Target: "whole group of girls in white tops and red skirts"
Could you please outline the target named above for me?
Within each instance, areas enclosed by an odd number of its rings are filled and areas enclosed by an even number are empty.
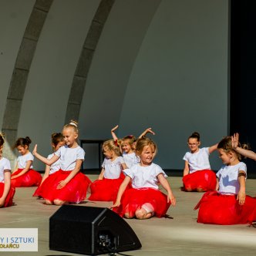
[[[71,120],[62,133],[52,134],[52,151],[42,157],[35,144],[32,153],[29,136],[19,138],[15,148],[20,156],[11,173],[9,160],[2,157],[4,134],[0,133],[0,207],[13,204],[15,187],[33,187],[34,197],[45,204],[78,204],[86,200],[112,201],[112,209],[121,217],[148,219],[164,217],[176,198],[163,169],[153,163],[157,145],[147,135],[155,134],[151,128],[136,138],[129,135],[122,139],[111,130],[112,140],[103,143],[102,170],[92,182],[81,172],[85,151],[79,147],[78,123]],[[184,155],[183,190],[204,192],[195,206],[199,209],[197,222],[204,224],[247,224],[256,221],[256,197],[245,192],[246,164],[241,157],[256,160],[256,153],[239,143],[239,135],[226,136],[211,147],[200,148],[200,134],[192,133],[187,140],[190,149]],[[224,165],[215,173],[211,170],[209,155],[218,151]],[[34,157],[45,163],[45,173],[33,170]],[[166,194],[159,190],[159,185]]]

